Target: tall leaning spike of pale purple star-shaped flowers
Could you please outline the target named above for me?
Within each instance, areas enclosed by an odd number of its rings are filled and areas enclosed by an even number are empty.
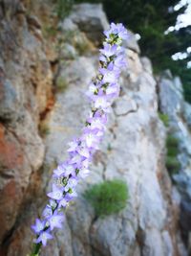
[[[37,219],[32,225],[37,236],[35,243],[38,244],[35,253],[41,244],[46,245],[53,238],[51,233],[54,228],[61,228],[64,221],[61,209],[77,196],[75,187],[78,181],[89,175],[92,156],[106,129],[107,113],[119,93],[118,78],[126,63],[121,43],[128,34],[122,24],[112,23],[104,35],[106,39],[100,50],[99,72],[86,93],[92,103],[90,115],[82,135],[69,143],[68,159],[53,170],[53,189],[48,193],[49,202],[43,210],[42,220]]]

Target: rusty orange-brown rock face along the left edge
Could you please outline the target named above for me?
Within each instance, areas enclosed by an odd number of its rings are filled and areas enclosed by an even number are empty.
[[[24,6],[1,1],[0,13],[0,243],[4,244],[18,221],[32,175],[43,163],[45,146],[38,124],[51,94],[52,72],[42,41],[29,29]]]

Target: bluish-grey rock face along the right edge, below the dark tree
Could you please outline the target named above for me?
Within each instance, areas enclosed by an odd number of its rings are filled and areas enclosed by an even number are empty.
[[[169,71],[159,79],[159,107],[169,117],[169,132],[179,140],[180,171],[173,175],[181,196],[180,222],[187,243],[191,231],[191,105],[183,100],[183,89],[179,78]]]

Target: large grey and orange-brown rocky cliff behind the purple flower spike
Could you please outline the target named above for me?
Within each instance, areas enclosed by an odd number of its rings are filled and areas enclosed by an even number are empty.
[[[53,168],[66,157],[67,142],[88,112],[84,92],[96,75],[97,46],[108,27],[101,5],[74,6],[60,22],[50,1],[37,2],[0,2],[0,255],[30,252],[30,226],[46,203]],[[158,111],[175,126],[173,118],[179,116],[189,133],[190,106],[178,81],[174,86],[172,78],[155,80],[133,34],[125,51],[128,68],[92,173],[79,184],[63,229],[42,255],[187,255],[180,235],[181,198],[165,168],[167,129]],[[186,109],[181,116],[175,113],[179,101]],[[189,153],[184,157],[188,166]],[[186,169],[181,154],[180,161]],[[114,177],[128,185],[126,208],[97,219],[83,192]]]

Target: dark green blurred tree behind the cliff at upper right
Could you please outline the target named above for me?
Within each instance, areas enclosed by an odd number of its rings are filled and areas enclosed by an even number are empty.
[[[83,2],[83,0],[75,0]],[[154,72],[170,69],[183,81],[185,99],[191,103],[191,69],[187,69],[187,59],[174,61],[171,56],[183,52],[190,46],[191,29],[182,28],[164,35],[174,26],[177,16],[185,11],[185,7],[174,12],[173,7],[179,0],[89,0],[102,2],[110,21],[122,22],[130,30],[138,33],[142,54],[151,58]]]

